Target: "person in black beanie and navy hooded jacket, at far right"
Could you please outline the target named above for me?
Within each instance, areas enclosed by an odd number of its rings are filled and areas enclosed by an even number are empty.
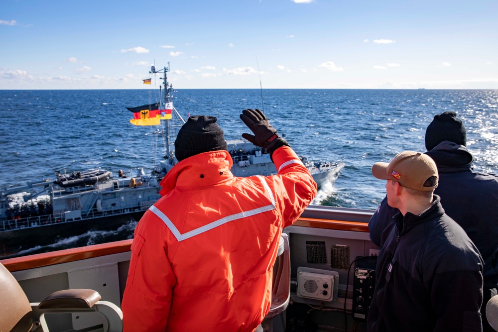
[[[434,116],[425,133],[426,154],[436,163],[445,213],[458,222],[479,249],[484,265],[483,331],[495,331],[486,319],[486,304],[498,286],[498,175],[475,172],[474,156],[466,147],[467,133],[453,111]],[[381,202],[369,222],[370,238],[381,244],[382,232],[398,212]]]

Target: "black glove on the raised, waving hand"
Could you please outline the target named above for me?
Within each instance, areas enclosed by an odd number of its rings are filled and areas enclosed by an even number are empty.
[[[246,123],[254,135],[243,133],[242,137],[247,139],[255,146],[265,148],[270,157],[277,148],[281,146],[290,146],[282,137],[278,136],[275,128],[271,126],[264,113],[260,110],[244,110],[241,119]]]

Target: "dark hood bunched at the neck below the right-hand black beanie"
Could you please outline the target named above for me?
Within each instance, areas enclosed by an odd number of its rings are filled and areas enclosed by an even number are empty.
[[[465,146],[450,141],[442,141],[425,154],[434,160],[439,172],[472,169],[474,161],[474,156]]]

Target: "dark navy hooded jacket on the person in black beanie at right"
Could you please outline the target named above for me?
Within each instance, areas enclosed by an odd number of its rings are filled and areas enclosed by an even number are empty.
[[[484,288],[498,286],[498,175],[474,172],[474,157],[463,145],[443,141],[426,152],[439,172],[434,194],[441,197],[445,213],[467,232],[479,249],[484,265]],[[384,198],[369,223],[377,246],[392,216],[398,212]]]

